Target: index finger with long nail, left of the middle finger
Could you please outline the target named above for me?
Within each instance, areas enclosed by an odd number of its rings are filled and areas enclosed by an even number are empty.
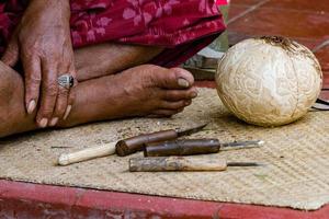
[[[27,114],[32,114],[36,108],[39,97],[42,80],[41,60],[38,57],[22,55],[22,65],[24,69],[25,107]]]

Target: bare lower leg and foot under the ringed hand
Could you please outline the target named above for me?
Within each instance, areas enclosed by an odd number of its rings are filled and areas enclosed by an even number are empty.
[[[171,116],[191,104],[191,99],[196,96],[195,89],[179,84],[180,78],[193,84],[193,77],[183,69],[151,65],[80,82],[72,89],[77,97],[71,113],[58,126],[132,116]],[[36,129],[35,115],[27,116],[25,113],[21,76],[2,62],[0,91],[0,137]]]

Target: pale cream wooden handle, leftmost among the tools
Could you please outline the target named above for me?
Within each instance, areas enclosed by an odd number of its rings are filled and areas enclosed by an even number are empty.
[[[94,158],[100,158],[104,155],[111,155],[115,153],[115,143],[110,142],[103,146],[92,147],[88,149],[83,149],[72,153],[63,153],[58,158],[59,165],[69,165],[72,163],[91,160]]]

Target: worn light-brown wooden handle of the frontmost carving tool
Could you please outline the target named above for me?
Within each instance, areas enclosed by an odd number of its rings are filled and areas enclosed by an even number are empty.
[[[225,160],[195,157],[133,158],[129,160],[131,172],[166,171],[224,171]]]

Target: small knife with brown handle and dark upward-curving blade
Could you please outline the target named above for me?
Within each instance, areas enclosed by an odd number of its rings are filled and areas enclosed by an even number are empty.
[[[124,140],[120,140],[115,146],[115,151],[116,154],[120,157],[128,155],[137,151],[141,151],[145,147],[145,143],[172,140],[181,136],[195,134],[202,130],[206,125],[207,124],[202,124],[188,129],[177,128],[177,129],[169,129],[169,130],[160,130],[157,132],[144,134]]]

